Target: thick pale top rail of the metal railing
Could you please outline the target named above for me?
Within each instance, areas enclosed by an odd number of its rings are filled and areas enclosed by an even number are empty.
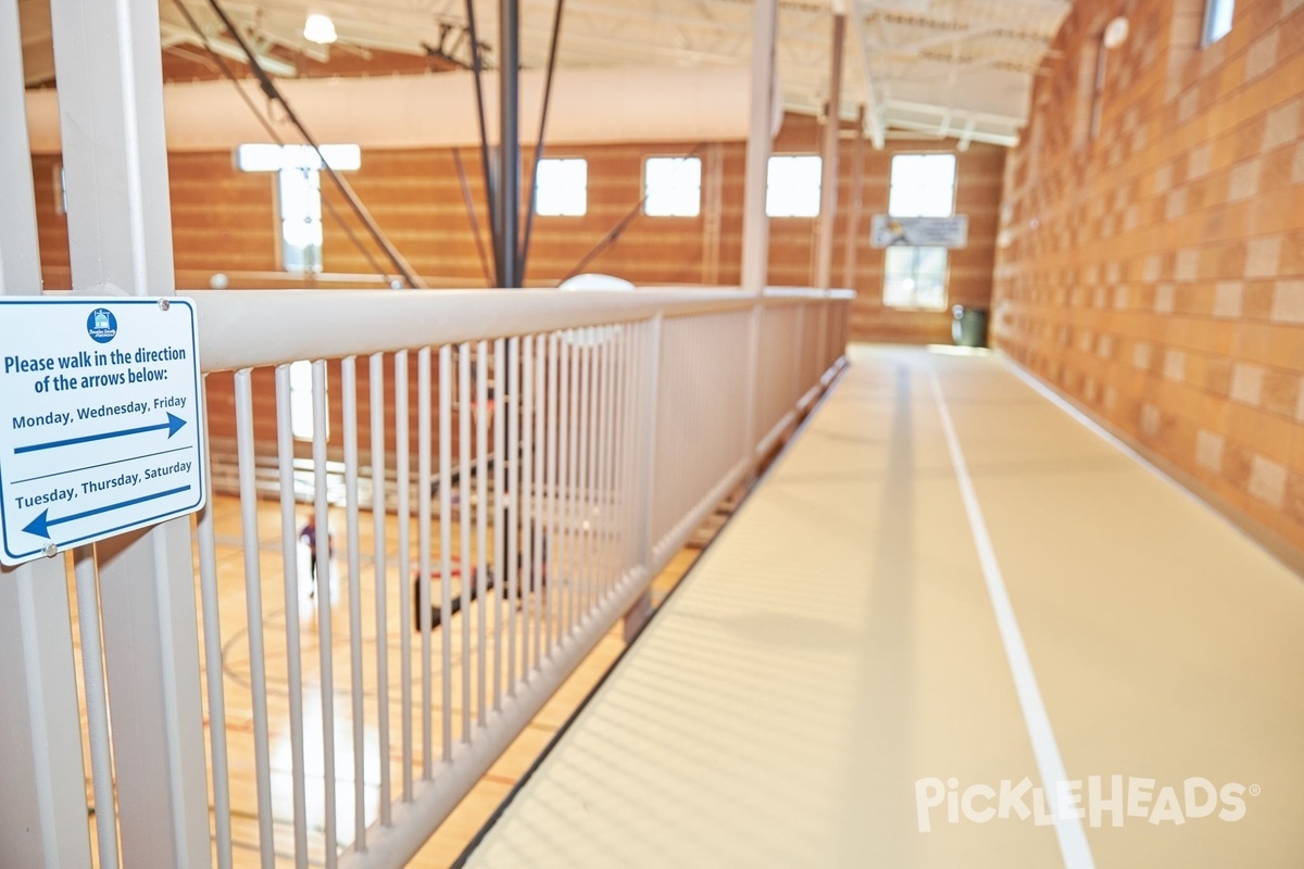
[[[825,297],[806,291],[810,298]],[[742,310],[758,298],[739,289],[563,292],[469,291],[185,291],[200,326],[205,371],[296,360],[338,358],[412,347]],[[831,294],[829,294],[831,296]],[[789,291],[767,293],[782,304]],[[314,304],[319,302],[319,304]]]

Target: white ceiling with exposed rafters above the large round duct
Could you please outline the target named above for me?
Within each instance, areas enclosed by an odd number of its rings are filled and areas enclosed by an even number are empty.
[[[202,10],[197,0],[184,0]],[[348,57],[348,74],[369,52],[421,57],[428,69],[464,66],[467,0],[224,0],[240,35],[276,76],[303,74],[301,57],[329,64]],[[484,21],[498,0],[471,0]],[[18,0],[29,85],[53,78],[50,0]],[[554,0],[520,0],[520,61],[542,68]],[[846,86],[840,117],[865,107],[863,134],[882,147],[893,130],[938,134],[961,143],[1011,142],[1028,113],[1031,82],[1069,9],[1068,0],[778,0],[776,65],[790,111],[818,115],[828,94],[828,21],[846,13]],[[567,0],[558,66],[745,66],[751,52],[754,0]],[[303,35],[309,8],[329,14],[339,40],[318,46]],[[201,16],[214,50],[239,60],[231,35]],[[164,47],[196,46],[171,4],[160,5]],[[494,33],[484,38],[493,42]],[[482,46],[490,50],[490,46]],[[492,56],[492,52],[490,55]],[[490,64],[492,66],[493,64]],[[928,107],[921,111],[919,106]],[[992,117],[969,124],[965,112]],[[998,120],[999,119],[999,120]]]

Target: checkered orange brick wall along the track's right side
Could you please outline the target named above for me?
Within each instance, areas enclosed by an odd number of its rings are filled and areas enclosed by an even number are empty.
[[[1106,51],[1098,130],[1091,94]],[[998,344],[1304,556],[1304,3],[1074,4],[1005,165]]]

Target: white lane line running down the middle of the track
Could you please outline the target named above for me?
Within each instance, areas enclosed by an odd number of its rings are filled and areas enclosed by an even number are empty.
[[[1005,580],[996,560],[991,535],[987,533],[987,521],[983,519],[982,506],[978,503],[978,492],[969,477],[969,466],[965,464],[965,455],[960,448],[960,438],[956,435],[956,426],[951,420],[941,382],[931,366],[928,367],[928,384],[932,387],[938,414],[941,417],[947,451],[951,453],[951,464],[956,472],[956,481],[960,483],[960,496],[965,504],[969,530],[973,534],[978,563],[987,584],[987,597],[991,599],[991,608],[996,615],[1000,641],[1005,646],[1005,659],[1015,677],[1015,691],[1018,694],[1018,705],[1024,713],[1028,736],[1033,743],[1033,756],[1037,758],[1037,769],[1042,776],[1042,788],[1055,816],[1055,838],[1059,840],[1060,856],[1064,859],[1067,869],[1094,869],[1095,860],[1091,857],[1091,848],[1086,842],[1086,830],[1082,827],[1081,818],[1063,817],[1058,810],[1059,806],[1054,804],[1056,783],[1069,780],[1068,773],[1064,770],[1064,758],[1060,757],[1059,744],[1051,730],[1051,719],[1046,713],[1041,688],[1037,687],[1037,676],[1033,672],[1033,662],[1028,657],[1028,648],[1024,645],[1024,634],[1018,631],[1015,607],[1009,601],[1009,591],[1005,589]]]

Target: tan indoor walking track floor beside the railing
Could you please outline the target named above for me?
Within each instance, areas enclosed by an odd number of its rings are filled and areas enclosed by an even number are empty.
[[[853,348],[469,866],[1299,866],[1304,584],[999,357]]]

